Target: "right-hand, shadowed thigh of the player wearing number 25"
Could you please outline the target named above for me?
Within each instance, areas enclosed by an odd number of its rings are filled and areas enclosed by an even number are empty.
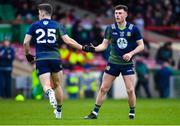
[[[59,71],[59,72],[52,72],[51,73],[51,78],[52,81],[54,83],[54,86],[58,86],[58,85],[62,85],[63,83],[63,71]]]

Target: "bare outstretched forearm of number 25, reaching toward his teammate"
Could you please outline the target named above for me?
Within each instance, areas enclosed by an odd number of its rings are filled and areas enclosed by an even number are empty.
[[[63,35],[61,38],[69,46],[82,50],[82,45],[77,43],[74,39],[70,38],[67,34]]]

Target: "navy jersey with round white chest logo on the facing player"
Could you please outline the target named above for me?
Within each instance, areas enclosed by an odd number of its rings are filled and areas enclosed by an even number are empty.
[[[137,47],[137,41],[142,39],[139,29],[133,24],[127,23],[124,29],[118,28],[117,23],[107,26],[105,39],[111,41],[111,52],[108,61],[113,64],[132,64],[132,60],[126,62],[122,56]]]

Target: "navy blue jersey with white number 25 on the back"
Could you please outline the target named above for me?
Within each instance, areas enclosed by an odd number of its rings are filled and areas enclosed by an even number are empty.
[[[66,35],[62,24],[50,19],[42,19],[31,25],[27,34],[32,36],[36,48],[36,60],[60,59],[60,37]]]

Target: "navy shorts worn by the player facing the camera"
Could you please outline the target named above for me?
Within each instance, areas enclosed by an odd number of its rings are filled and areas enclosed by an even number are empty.
[[[119,76],[120,73],[122,75],[132,75],[135,73],[133,64],[119,65],[112,63],[107,64],[105,72],[116,77]]]

